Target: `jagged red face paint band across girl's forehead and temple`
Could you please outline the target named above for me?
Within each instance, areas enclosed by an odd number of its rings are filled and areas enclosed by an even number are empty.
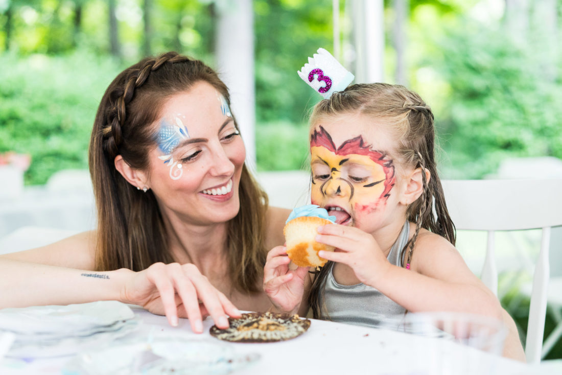
[[[341,146],[336,147],[336,144],[332,140],[332,136],[323,128],[323,126],[319,126],[319,128],[320,131],[315,129],[314,133],[310,136],[310,147],[324,147],[327,148],[328,151],[339,156],[362,155],[369,157],[369,159],[383,168],[385,175],[384,190],[380,196],[387,198],[396,182],[394,164],[392,159],[388,159],[387,153],[372,150],[370,144],[365,144],[361,135],[348,139],[343,142]]]

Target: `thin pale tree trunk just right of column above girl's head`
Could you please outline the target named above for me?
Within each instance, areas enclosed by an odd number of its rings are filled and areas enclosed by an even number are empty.
[[[396,51],[395,79],[397,84],[408,85],[406,72],[406,28],[408,24],[409,0],[394,0],[395,20],[392,40]]]

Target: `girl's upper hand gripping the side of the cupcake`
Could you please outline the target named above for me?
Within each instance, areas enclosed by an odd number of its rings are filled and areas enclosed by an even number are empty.
[[[359,228],[328,224],[318,227],[318,233],[316,241],[336,247],[334,252],[319,251],[318,255],[350,266],[364,284],[376,287],[391,266],[373,236]]]

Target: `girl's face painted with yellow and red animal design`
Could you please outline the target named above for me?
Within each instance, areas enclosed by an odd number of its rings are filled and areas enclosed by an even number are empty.
[[[367,116],[320,118],[311,127],[312,204],[365,232],[396,219],[398,188],[386,126]]]

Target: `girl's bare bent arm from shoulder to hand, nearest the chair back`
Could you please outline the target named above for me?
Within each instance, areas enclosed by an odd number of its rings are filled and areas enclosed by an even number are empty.
[[[411,269],[388,263],[373,236],[357,228],[324,225],[316,241],[336,252],[319,252],[347,264],[362,282],[409,311],[465,311],[501,319],[495,295],[468,269],[445,238],[423,230],[418,236]]]

